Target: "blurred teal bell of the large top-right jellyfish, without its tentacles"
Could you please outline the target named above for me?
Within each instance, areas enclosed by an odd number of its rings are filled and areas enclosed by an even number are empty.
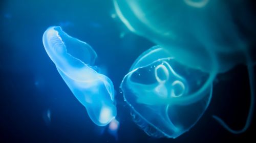
[[[256,20],[249,20],[254,18],[244,10],[246,4],[243,0],[114,1],[117,15],[130,31],[168,49],[184,65],[216,73],[248,63],[245,50],[253,51],[248,41],[256,36]],[[232,18],[236,5],[247,19]],[[235,20],[251,32],[250,37],[239,31]]]

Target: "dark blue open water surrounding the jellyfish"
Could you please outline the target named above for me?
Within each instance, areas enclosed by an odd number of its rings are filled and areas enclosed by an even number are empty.
[[[233,135],[211,118],[219,115],[231,127],[243,127],[250,100],[245,66],[218,76],[208,109],[189,132],[177,139],[152,138],[132,121],[119,84],[137,56],[154,44],[111,17],[115,12],[112,1],[10,0],[0,4],[0,142],[255,141],[254,120],[248,131]],[[51,25],[62,26],[98,53],[99,66],[116,90],[117,140],[92,123],[49,59],[42,34]],[[50,122],[47,110],[51,111]]]

